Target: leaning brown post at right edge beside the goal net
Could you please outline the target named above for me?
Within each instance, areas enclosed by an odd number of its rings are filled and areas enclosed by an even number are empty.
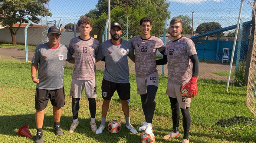
[[[254,0],[256,1],[256,0]],[[253,40],[255,36],[255,15],[252,11],[252,32],[250,36],[249,46],[248,46],[248,52],[247,52],[247,58],[246,58],[246,67],[245,67],[245,73],[244,73],[244,83],[247,85],[248,83],[248,76],[249,76],[249,69],[250,69],[250,63],[252,58],[252,49],[253,49]]]

